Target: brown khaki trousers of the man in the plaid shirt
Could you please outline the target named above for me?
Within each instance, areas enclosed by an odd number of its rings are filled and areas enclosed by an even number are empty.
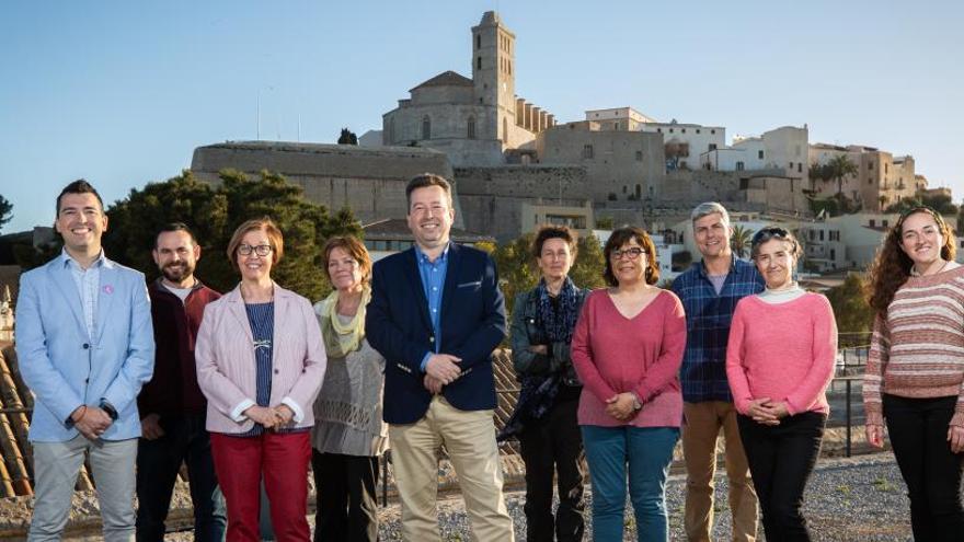
[[[726,445],[726,476],[733,540],[751,542],[757,533],[757,494],[749,476],[746,453],[736,425],[736,408],[725,401],[684,403],[682,453],[686,459],[684,527],[690,541],[709,542],[713,528],[713,492],[716,474],[716,437]]]

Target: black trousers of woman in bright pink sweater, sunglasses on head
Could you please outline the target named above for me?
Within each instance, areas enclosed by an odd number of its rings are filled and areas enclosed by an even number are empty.
[[[737,417],[767,540],[811,540],[801,512],[803,491],[820,454],[826,422],[815,412],[787,416],[777,426]]]

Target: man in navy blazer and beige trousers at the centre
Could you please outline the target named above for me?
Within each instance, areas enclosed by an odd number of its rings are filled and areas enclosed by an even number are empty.
[[[437,541],[436,451],[445,445],[478,540],[514,540],[495,445],[492,350],[505,302],[492,258],[449,241],[451,186],[418,175],[405,188],[415,246],[375,264],[365,333],[385,356],[402,535]]]

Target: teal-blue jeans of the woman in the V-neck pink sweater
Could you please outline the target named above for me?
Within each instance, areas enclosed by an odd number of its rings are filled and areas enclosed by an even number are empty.
[[[666,476],[679,428],[584,425],[582,429],[593,481],[593,540],[622,540],[627,464],[636,540],[668,540]]]

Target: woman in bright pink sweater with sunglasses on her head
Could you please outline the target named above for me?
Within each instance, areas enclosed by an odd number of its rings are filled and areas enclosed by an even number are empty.
[[[733,314],[726,377],[767,540],[810,540],[801,514],[829,407],[837,325],[827,298],[793,280],[800,244],[792,233],[764,228],[751,257],[767,281]]]

